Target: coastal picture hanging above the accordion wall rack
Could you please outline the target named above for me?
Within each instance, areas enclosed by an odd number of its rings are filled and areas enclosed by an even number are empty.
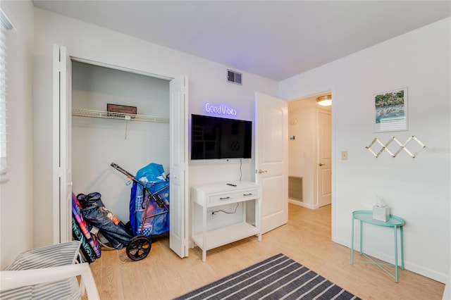
[[[407,87],[374,94],[374,132],[407,129]]]

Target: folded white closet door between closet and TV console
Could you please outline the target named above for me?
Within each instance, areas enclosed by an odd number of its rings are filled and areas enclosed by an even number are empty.
[[[188,79],[169,84],[170,190],[169,247],[181,258],[188,256]]]

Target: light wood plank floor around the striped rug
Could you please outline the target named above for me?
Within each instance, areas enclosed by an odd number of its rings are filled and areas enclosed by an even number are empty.
[[[400,270],[395,283],[376,265],[351,265],[350,249],[330,241],[330,206],[310,210],[290,204],[288,224],[266,233],[261,242],[249,237],[207,251],[205,263],[198,247],[181,259],[163,238],[153,242],[142,261],[130,261],[125,249],[102,251],[91,269],[102,300],[172,299],[279,253],[362,299],[442,299],[445,288],[408,270]]]

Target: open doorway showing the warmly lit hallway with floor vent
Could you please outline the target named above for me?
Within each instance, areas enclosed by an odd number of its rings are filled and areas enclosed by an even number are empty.
[[[289,202],[310,209],[331,204],[331,106],[319,106],[322,92],[288,103]],[[297,192],[297,194],[294,194]]]

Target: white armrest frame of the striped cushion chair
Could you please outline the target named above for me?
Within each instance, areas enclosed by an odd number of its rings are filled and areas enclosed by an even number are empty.
[[[45,282],[64,280],[81,276],[81,284],[85,286],[87,297],[100,299],[97,287],[88,263],[61,265],[59,267],[39,268],[32,270],[13,270],[0,272],[0,291],[15,289],[28,285],[38,285]]]

